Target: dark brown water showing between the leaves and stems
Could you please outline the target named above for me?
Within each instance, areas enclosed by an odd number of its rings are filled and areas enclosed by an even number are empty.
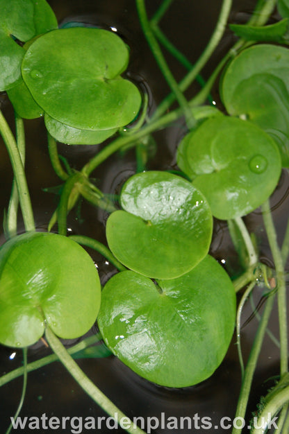
[[[60,23],[68,21],[83,21],[86,24],[93,24],[104,28],[111,26],[117,28],[117,33],[131,47],[131,62],[129,74],[144,92],[149,93],[149,105],[151,110],[166,96],[168,89],[164,78],[152,58],[147,44],[140,31],[135,3],[133,0],[53,0],[49,1],[53,10],[56,12]],[[193,63],[197,60],[201,51],[206,46],[210,33],[213,31],[217,14],[220,11],[220,0],[208,1],[174,1],[170,12],[165,15],[162,21],[163,31],[170,36],[170,40],[187,55]],[[249,17],[256,1],[235,1],[231,21],[244,22]],[[160,1],[147,1],[149,14],[156,10]],[[222,57],[226,49],[233,43],[233,37],[226,31],[222,44],[218,47],[212,60],[204,70],[204,77],[209,75],[217,64],[217,60]],[[177,79],[185,73],[185,69],[173,62],[170,55],[167,55],[172,71]],[[188,92],[188,97],[197,92],[197,85]],[[213,93],[216,101],[218,100],[217,90]],[[12,119],[13,113],[5,94],[0,95],[1,109],[5,112],[8,119]],[[26,173],[29,189],[35,212],[35,220],[39,229],[46,229],[49,218],[57,205],[57,196],[52,193],[44,192],[46,187],[57,186],[60,180],[53,173],[47,153],[47,139],[42,120],[26,121],[27,139],[27,164]],[[156,157],[149,163],[149,168],[173,169],[176,168],[175,151],[179,139],[185,134],[182,122],[173,128],[167,128],[155,134],[158,143]],[[74,168],[81,168],[85,162],[99,150],[99,146],[59,146],[59,152],[67,157],[69,164]],[[135,173],[135,155],[133,151],[125,155],[114,155],[108,159],[106,164],[101,165],[93,173],[97,186],[106,193],[119,191],[130,175]],[[0,146],[0,180],[1,180],[1,217],[3,209],[7,207],[10,196],[10,185],[12,172],[10,163],[1,143]],[[283,173],[279,186],[272,198],[273,216],[279,228],[280,240],[286,227],[286,219],[289,212],[288,189],[289,179]],[[83,234],[105,242],[105,220],[104,211],[99,211],[83,202],[80,214],[76,211],[69,215],[67,224],[75,234]],[[256,233],[258,244],[261,250],[261,258],[271,264],[272,259],[267,245],[267,238],[264,233],[261,214],[258,210],[246,218],[249,229]],[[19,221],[19,230],[23,229],[22,222]],[[1,240],[3,241],[3,235]],[[236,253],[233,250],[229,233],[226,225],[220,221],[215,222],[214,239],[211,246],[211,253],[220,261],[225,263],[230,272],[238,272],[236,266]],[[99,266],[99,274],[104,284],[115,270],[113,266],[106,263],[104,258],[96,252],[90,251],[94,261]],[[258,304],[262,297],[262,290],[257,288],[254,295],[254,302]],[[251,316],[251,306],[245,306],[243,322]],[[242,329],[242,349],[245,360],[256,333],[258,320],[254,317]],[[270,329],[278,336],[278,324],[276,312],[270,322]],[[151,384],[131,372],[126,366],[113,356],[101,359],[88,359],[79,362],[81,368],[88,374],[90,379],[105,393],[110,399],[129,417],[156,417],[161,422],[162,413],[165,420],[169,417],[194,417],[192,429],[173,428],[170,426],[153,429],[154,433],[226,433],[230,429],[220,427],[222,417],[233,418],[238,394],[240,392],[240,367],[238,364],[236,337],[233,337],[231,347],[222,365],[215,374],[192,388],[181,390],[171,390]],[[12,358],[12,354],[14,354]],[[28,351],[29,360],[49,354],[49,350],[41,342]],[[12,358],[12,359],[10,359]],[[22,364],[22,351],[14,351],[6,347],[0,348],[0,371],[8,372]],[[194,369],[194,367],[192,367]],[[251,411],[256,409],[256,403],[262,394],[270,388],[274,381],[272,377],[279,373],[279,350],[274,343],[266,338],[265,345],[258,362],[258,370],[254,377],[252,398],[249,403],[248,417]],[[21,394],[22,379],[17,379],[0,389],[0,432],[4,433],[9,424],[9,417],[14,415]],[[47,417],[104,417],[105,413],[88,398],[79,388],[71,376],[59,363],[53,363],[41,370],[28,374],[28,388],[26,399],[21,415],[24,417],[40,417],[46,413]],[[201,418],[209,417],[213,425],[208,428],[205,420]],[[198,419],[200,418],[200,419]],[[77,421],[75,422],[75,432],[79,431]],[[226,420],[226,425],[229,422]],[[151,419],[151,425],[156,425],[156,421]],[[213,428],[218,426],[219,428]],[[32,431],[32,430],[31,430]],[[101,433],[111,431],[121,433],[121,428],[110,429],[103,425],[99,428]],[[17,432],[30,432],[28,430]],[[38,430],[40,433],[63,432],[69,433],[67,427],[63,430]],[[244,431],[246,432],[246,430]]]

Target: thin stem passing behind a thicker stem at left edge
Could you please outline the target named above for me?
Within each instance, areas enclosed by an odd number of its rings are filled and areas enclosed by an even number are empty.
[[[15,112],[15,128],[16,128],[16,142],[19,150],[19,155],[22,164],[25,164],[25,133],[23,119]],[[17,235],[17,212],[19,205],[19,197],[17,191],[17,184],[15,177],[13,179],[10,202],[7,213],[7,232],[8,237],[12,238]]]

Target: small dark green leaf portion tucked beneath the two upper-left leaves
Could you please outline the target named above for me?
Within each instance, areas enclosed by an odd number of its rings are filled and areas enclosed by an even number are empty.
[[[7,94],[14,110],[24,119],[35,119],[43,116],[42,108],[33,99],[28,87],[21,79],[19,83],[8,89]]]

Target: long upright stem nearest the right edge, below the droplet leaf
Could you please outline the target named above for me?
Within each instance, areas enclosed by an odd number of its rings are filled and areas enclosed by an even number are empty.
[[[288,331],[287,331],[287,309],[286,309],[286,281],[283,268],[283,258],[277,242],[277,235],[270,211],[270,202],[267,200],[263,206],[263,220],[267,232],[270,249],[276,269],[276,281],[278,287],[278,314],[280,334],[280,373],[281,376],[288,372]]]

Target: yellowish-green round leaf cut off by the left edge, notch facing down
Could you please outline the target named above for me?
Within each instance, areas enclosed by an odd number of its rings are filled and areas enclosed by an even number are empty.
[[[0,249],[0,342],[26,347],[45,322],[60,338],[86,333],[97,318],[100,283],[89,254],[65,236],[33,232]]]

